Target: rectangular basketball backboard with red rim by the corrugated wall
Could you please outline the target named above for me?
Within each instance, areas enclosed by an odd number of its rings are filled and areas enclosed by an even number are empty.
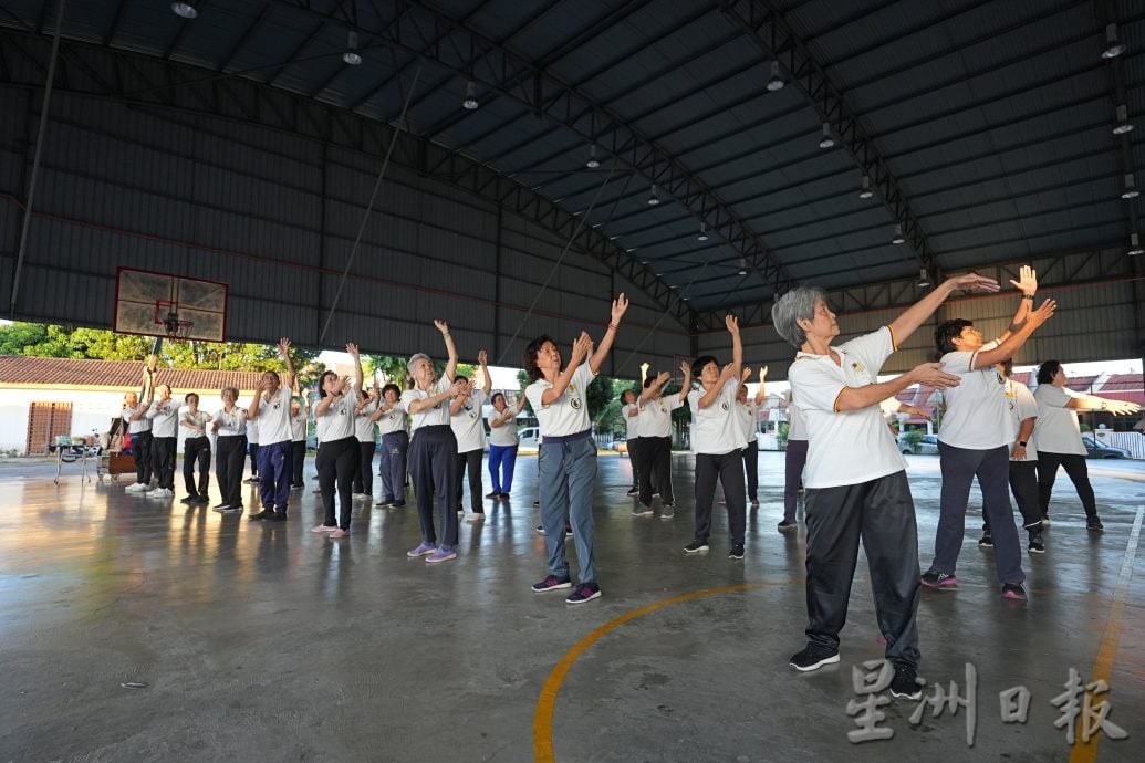
[[[229,286],[219,281],[120,268],[114,329],[121,334],[222,342]]]

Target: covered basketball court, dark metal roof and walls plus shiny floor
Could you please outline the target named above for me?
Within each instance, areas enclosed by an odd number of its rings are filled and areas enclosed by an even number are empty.
[[[1143,87],[1129,0],[9,0],[2,317],[389,355],[440,355],[440,318],[463,360],[512,366],[539,333],[599,335],[625,292],[607,375],[727,357],[734,312],[783,379],[768,316],[793,284],[852,335],[947,275],[1030,264],[1060,307],[1019,364],[1139,359]],[[220,285],[221,309],[140,277],[124,312],[125,271]],[[1012,308],[966,295],[933,321],[988,334]],[[804,534],[774,532],[772,455],[740,564],[684,557],[689,498],[674,524],[631,517],[627,461],[602,456],[606,595],[575,611],[526,588],[528,462],[444,569],[400,553],[412,512],[363,507],[337,545],[0,469],[0,757],[1136,760],[1139,462],[1093,468],[1099,535],[1059,486],[1027,604],[969,535],[962,590],[924,597],[921,674],[977,675],[970,747],[969,708],[910,723],[898,701],[893,739],[848,739],[852,669],[882,654],[863,563],[843,662],[788,669]],[[938,474],[909,474],[925,561]],[[1127,741],[1067,742],[1071,670],[1107,682]],[[1016,686],[1025,721],[1000,710]]]

